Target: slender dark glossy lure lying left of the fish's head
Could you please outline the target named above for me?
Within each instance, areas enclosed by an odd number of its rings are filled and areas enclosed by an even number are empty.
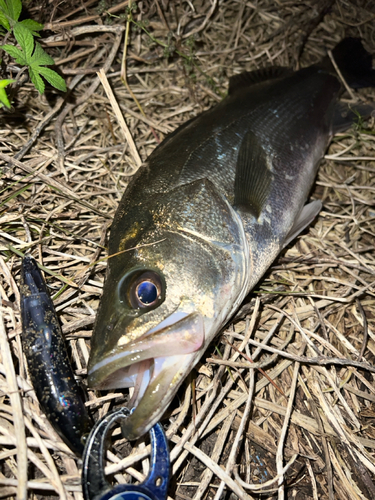
[[[20,290],[22,345],[35,393],[56,432],[81,456],[93,423],[74,379],[52,300],[31,256],[22,262]]]

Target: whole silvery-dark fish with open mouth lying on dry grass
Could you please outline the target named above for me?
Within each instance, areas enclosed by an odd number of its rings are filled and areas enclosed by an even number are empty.
[[[341,77],[375,85],[371,55],[347,38],[330,58],[292,71],[233,76],[228,95],[184,123],[129,183],[109,239],[88,385],[134,387],[122,426],[136,439],[158,421],[207,346],[279,252],[319,213],[306,204],[333,137],[356,113]]]

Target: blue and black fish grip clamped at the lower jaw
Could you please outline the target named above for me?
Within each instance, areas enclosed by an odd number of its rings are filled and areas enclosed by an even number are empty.
[[[168,442],[160,424],[150,429],[151,468],[141,484],[112,487],[104,476],[106,438],[114,424],[130,415],[127,408],[109,412],[92,429],[83,454],[82,491],[85,500],[166,500],[170,460]]]

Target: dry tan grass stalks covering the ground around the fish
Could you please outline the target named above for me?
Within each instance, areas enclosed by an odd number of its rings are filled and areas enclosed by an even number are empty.
[[[131,26],[127,87],[123,20],[99,16],[96,1],[76,11],[69,1],[42,11],[37,4],[29,4],[31,17],[50,23],[44,45],[72,91],[65,100],[52,90],[40,97],[25,83],[14,111],[0,115],[0,498],[15,498],[18,487],[20,498],[27,488],[29,498],[78,500],[80,462],[41,413],[27,377],[20,255],[31,251],[48,269],[84,381],[100,259],[136,151],[145,160],[244,69],[307,65],[344,36],[361,36],[375,53],[375,9],[361,0],[139,2],[135,19],[148,20],[166,48]],[[111,10],[119,15],[126,4]],[[103,66],[135,147],[96,76]],[[360,98],[375,102],[374,94]],[[375,498],[374,146],[364,129],[335,138],[312,193],[324,202],[316,223],[277,259],[166,414],[170,497]],[[88,405],[100,417],[126,397],[89,391]],[[144,477],[147,449],[122,440],[119,448],[126,458],[110,454],[108,473],[120,482]]]

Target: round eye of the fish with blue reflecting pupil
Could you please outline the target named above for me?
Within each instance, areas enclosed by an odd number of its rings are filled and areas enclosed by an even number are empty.
[[[128,302],[133,309],[153,308],[162,302],[163,286],[158,273],[136,273],[127,287]]]

